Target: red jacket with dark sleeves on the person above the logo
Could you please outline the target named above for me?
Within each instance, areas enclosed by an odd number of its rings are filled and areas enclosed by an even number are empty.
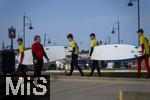
[[[43,59],[43,56],[45,58],[48,58],[45,51],[44,51],[43,45],[40,43],[33,43],[32,55],[33,55],[33,59]]]

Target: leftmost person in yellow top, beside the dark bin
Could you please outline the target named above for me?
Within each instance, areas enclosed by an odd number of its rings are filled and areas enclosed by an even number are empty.
[[[23,43],[22,38],[18,38],[17,43],[19,46],[18,49],[19,49],[19,56],[20,56],[18,70],[21,74],[21,77],[24,78],[24,82],[26,82],[27,81],[27,74],[26,74],[26,67],[27,66],[22,64],[23,59],[24,59],[25,45]]]

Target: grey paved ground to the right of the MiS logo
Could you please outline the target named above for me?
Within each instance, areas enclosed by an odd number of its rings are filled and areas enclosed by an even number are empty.
[[[150,79],[51,76],[50,100],[123,100],[120,91],[150,94]]]

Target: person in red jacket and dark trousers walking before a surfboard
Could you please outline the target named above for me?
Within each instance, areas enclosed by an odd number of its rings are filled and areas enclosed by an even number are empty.
[[[36,85],[39,77],[41,76],[41,71],[43,67],[43,57],[49,61],[44,47],[41,44],[41,38],[39,35],[34,37],[34,43],[32,44],[32,55],[33,55],[33,63],[34,63],[34,81],[33,83]]]

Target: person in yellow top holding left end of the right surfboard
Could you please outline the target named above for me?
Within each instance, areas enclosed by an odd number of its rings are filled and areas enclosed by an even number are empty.
[[[90,39],[91,39],[91,41],[90,41],[91,50],[90,50],[89,56],[91,57],[91,55],[94,51],[94,47],[100,45],[100,43],[96,40],[96,36],[94,33],[90,34]],[[88,76],[92,76],[94,73],[94,70],[97,69],[98,76],[101,77],[99,62],[97,60],[92,60],[90,62],[91,62],[90,66],[92,69],[91,69],[91,73]]]

